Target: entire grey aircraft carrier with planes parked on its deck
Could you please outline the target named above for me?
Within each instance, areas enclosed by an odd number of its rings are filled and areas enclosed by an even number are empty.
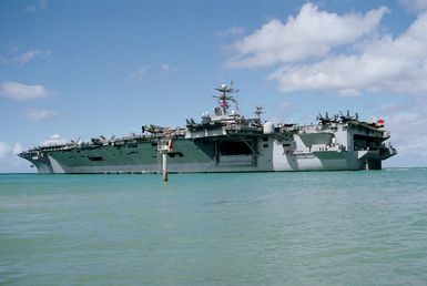
[[[245,119],[232,104],[238,90],[222,84],[217,106],[185,127],[144,125],[129,136],[41,145],[19,156],[39,173],[160,173],[162,152],[171,173],[380,170],[395,155],[384,120],[319,114],[316,124],[262,122],[262,108]]]

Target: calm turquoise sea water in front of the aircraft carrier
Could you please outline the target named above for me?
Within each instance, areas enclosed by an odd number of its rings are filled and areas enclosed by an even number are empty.
[[[426,168],[0,175],[1,285],[426,283]]]

